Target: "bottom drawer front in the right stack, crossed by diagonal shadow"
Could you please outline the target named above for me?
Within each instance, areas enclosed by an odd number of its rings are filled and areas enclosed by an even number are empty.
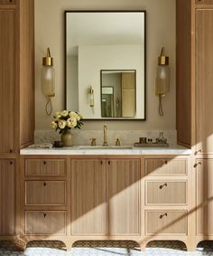
[[[187,235],[187,211],[145,211],[145,235]]]

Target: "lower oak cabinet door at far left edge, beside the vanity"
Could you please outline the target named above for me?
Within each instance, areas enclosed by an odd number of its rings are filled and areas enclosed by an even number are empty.
[[[14,234],[14,160],[0,160],[0,235]]]

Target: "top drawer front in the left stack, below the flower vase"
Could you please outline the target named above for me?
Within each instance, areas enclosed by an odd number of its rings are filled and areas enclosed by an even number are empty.
[[[26,159],[25,175],[65,175],[65,159]]]

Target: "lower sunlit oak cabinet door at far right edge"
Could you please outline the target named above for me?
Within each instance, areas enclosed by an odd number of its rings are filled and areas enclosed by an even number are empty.
[[[197,235],[213,235],[213,159],[198,159],[196,167]]]

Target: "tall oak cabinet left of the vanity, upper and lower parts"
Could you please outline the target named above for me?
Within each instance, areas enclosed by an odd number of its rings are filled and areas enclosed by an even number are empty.
[[[33,0],[0,0],[0,240],[16,233],[19,149],[33,141]]]

